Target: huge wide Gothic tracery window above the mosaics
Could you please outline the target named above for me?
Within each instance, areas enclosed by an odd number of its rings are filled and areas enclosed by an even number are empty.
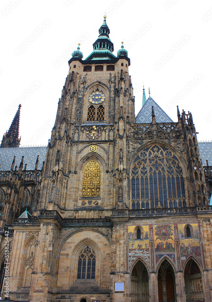
[[[139,153],[131,169],[132,209],[186,207],[184,177],[171,150],[154,145]]]

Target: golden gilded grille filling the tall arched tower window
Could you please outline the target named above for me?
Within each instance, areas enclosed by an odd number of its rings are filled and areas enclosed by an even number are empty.
[[[95,160],[85,166],[82,179],[82,197],[100,196],[101,169]]]

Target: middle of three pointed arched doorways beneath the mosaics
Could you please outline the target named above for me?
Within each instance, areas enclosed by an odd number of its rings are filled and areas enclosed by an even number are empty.
[[[158,271],[158,301],[175,302],[175,299],[175,273],[172,265],[167,260],[164,260]]]

